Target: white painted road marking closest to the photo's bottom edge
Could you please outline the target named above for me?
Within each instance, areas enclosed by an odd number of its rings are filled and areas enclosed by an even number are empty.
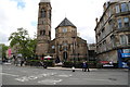
[[[38,83],[44,84],[44,85],[56,85],[57,83],[62,80],[63,79],[44,79],[44,80],[39,80]]]

